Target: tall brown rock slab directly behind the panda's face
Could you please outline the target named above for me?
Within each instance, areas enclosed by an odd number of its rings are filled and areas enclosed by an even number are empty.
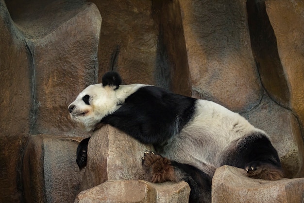
[[[57,8],[59,5],[46,7],[53,9],[49,16],[44,16],[40,10],[34,11],[40,17],[38,22],[17,21],[27,37],[31,37],[27,43],[35,72],[34,134],[83,134],[69,119],[67,107],[86,86],[97,82],[100,13],[93,3],[66,5],[67,8],[60,9]],[[70,10],[70,7],[73,9]],[[53,15],[58,16],[55,20],[58,24],[51,23],[54,21]],[[49,31],[43,26],[33,26],[36,35],[28,33],[26,29],[31,23],[45,25],[49,22]]]

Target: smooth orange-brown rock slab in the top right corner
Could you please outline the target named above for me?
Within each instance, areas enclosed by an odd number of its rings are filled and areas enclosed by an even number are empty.
[[[267,0],[265,4],[290,92],[290,108],[304,126],[304,2]]]

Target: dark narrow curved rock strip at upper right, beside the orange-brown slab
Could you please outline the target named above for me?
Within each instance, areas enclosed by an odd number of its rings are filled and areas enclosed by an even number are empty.
[[[272,99],[287,108],[290,92],[265,1],[248,0],[247,11],[251,45],[263,87]]]

